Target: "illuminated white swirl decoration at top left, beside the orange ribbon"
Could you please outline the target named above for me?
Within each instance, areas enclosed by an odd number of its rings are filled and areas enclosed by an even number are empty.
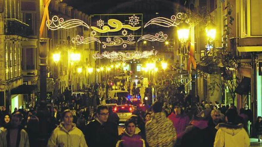
[[[63,18],[58,18],[58,16],[54,16],[52,20],[47,20],[46,26],[50,30],[70,29],[70,28],[77,27],[77,26],[84,26],[89,29],[89,26],[82,20],[70,19],[70,20],[64,21]]]

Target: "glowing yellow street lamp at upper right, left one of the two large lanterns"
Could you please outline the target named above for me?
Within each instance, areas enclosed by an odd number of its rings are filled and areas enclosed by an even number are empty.
[[[178,39],[184,43],[188,40],[189,36],[189,25],[182,21],[177,29]]]

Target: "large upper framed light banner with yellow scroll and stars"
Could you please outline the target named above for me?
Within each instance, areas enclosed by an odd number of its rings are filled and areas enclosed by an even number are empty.
[[[90,28],[97,32],[96,37],[125,37],[131,33],[141,37],[142,25],[143,14],[99,14],[91,15]]]

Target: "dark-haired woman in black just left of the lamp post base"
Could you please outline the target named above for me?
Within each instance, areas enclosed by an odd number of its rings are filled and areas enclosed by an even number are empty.
[[[38,146],[37,139],[39,137],[39,119],[32,115],[27,118],[26,132],[28,133],[30,147]]]

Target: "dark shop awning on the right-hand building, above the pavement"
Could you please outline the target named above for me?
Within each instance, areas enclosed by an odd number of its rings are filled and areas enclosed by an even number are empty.
[[[243,94],[248,94],[250,90],[250,78],[244,77],[240,84],[237,86],[235,89],[235,92],[237,94],[243,95]]]

